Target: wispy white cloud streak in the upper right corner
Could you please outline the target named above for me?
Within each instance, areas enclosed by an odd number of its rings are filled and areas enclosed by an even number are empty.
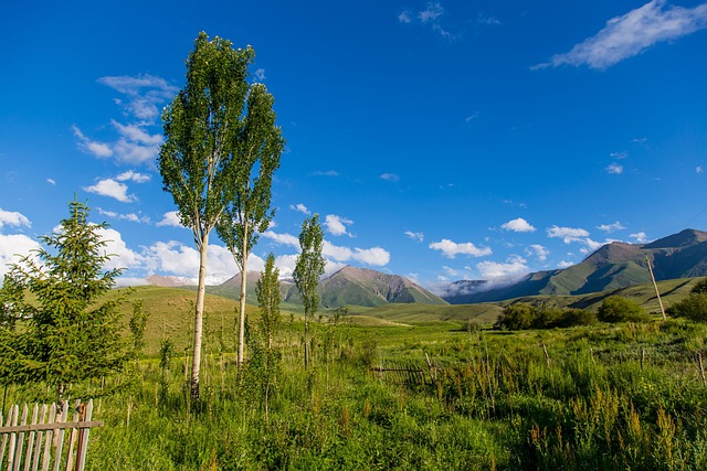
[[[570,52],[556,54],[550,62],[534,68],[568,64],[604,69],[654,44],[676,40],[704,28],[707,28],[707,3],[689,9],[653,0],[624,15],[612,18],[599,33],[577,44]]]

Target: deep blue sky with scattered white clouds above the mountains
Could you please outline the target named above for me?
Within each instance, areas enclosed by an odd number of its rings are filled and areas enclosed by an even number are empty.
[[[156,154],[200,31],[256,52],[287,150],[283,275],[304,217],[345,265],[423,286],[707,229],[707,3],[11,2],[0,18],[0,271],[87,201],[128,268],[196,278]],[[209,281],[235,274],[211,238]]]

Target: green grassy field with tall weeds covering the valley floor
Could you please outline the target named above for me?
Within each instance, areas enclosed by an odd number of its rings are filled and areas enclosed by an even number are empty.
[[[663,283],[666,304],[690,283]],[[650,291],[625,296],[653,311]],[[705,324],[653,314],[508,332],[489,329],[497,304],[388,306],[336,325],[323,312],[305,371],[300,314],[283,312],[268,353],[252,308],[239,370],[235,301],[210,296],[194,405],[193,292],[140,287],[129,297],[150,314],[146,355],[94,384],[98,395],[118,392],[98,400],[105,427],[92,432],[91,470],[707,469]],[[165,339],[176,344],[170,358],[159,355]],[[31,394],[11,387],[8,399]]]

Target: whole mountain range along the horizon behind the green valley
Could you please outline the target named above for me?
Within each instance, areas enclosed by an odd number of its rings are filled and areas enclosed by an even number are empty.
[[[510,280],[460,280],[442,288],[440,296],[399,275],[347,266],[321,280],[323,308],[381,307],[390,303],[469,304],[537,295],[577,296],[625,288],[651,281],[648,260],[656,280],[707,276],[707,233],[685,229],[650,244],[613,242],[580,264],[564,269],[536,271]],[[257,304],[258,272],[247,274],[246,301]],[[152,285],[176,286],[181,280],[150,277]],[[208,287],[215,295],[238,298],[241,276]],[[302,304],[292,279],[281,280],[281,299]]]

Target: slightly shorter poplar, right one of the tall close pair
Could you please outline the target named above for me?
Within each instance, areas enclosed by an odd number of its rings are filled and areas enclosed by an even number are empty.
[[[273,174],[279,168],[285,144],[281,129],[275,126],[273,103],[265,85],[251,87],[243,126],[233,136],[228,205],[217,224],[217,232],[241,272],[239,365],[243,363],[247,257],[258,234],[266,231],[273,220],[274,211],[270,208]]]

